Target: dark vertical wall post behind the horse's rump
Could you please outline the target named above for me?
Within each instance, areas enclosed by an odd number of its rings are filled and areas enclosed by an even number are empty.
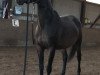
[[[84,25],[85,22],[85,12],[86,12],[86,0],[81,2],[81,12],[80,12],[80,21]]]

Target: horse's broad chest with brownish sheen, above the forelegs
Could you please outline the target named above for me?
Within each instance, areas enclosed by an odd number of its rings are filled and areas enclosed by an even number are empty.
[[[50,26],[45,26],[42,30],[37,26],[35,32],[35,41],[39,45],[48,47],[55,42],[56,35],[56,29]]]

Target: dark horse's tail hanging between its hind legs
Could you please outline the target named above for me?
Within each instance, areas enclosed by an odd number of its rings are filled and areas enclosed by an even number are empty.
[[[76,52],[78,52],[78,53],[81,52],[81,43],[82,43],[82,30],[79,31],[78,40],[71,48],[71,51],[70,51],[69,57],[68,57],[68,61],[70,61],[74,57]]]

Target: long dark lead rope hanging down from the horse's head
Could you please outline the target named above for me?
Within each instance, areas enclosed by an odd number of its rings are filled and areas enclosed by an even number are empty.
[[[27,23],[26,23],[26,44],[25,44],[25,56],[24,56],[24,70],[23,75],[26,75],[26,66],[27,66],[27,49],[28,49],[28,25],[29,25],[29,3],[27,4]]]

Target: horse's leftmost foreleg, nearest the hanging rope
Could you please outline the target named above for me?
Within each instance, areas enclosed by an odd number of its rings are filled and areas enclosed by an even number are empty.
[[[44,49],[43,48],[38,49],[38,57],[39,57],[40,75],[43,75],[43,70],[44,70]]]

